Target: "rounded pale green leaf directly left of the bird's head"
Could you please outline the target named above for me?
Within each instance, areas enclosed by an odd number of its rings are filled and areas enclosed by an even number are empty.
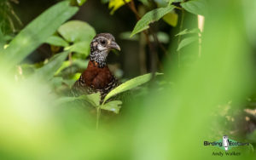
[[[88,23],[81,20],[71,20],[63,24],[58,32],[69,43],[81,41],[90,42],[96,35],[96,31]]]

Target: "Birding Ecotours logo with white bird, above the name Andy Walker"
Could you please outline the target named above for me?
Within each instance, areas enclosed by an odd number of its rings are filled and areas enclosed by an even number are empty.
[[[233,147],[236,146],[249,146],[250,143],[245,143],[245,142],[239,142],[236,140],[232,140],[229,138],[228,135],[224,135],[221,140],[218,141],[204,141],[204,146],[217,146],[218,148],[224,150],[224,151],[229,151]]]

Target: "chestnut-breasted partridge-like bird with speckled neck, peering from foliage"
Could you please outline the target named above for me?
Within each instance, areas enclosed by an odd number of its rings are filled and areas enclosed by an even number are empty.
[[[93,94],[100,92],[101,103],[104,97],[119,86],[119,80],[113,76],[108,68],[108,53],[116,49],[120,51],[119,44],[110,33],[99,33],[90,43],[90,61],[79,79],[73,84],[73,96]]]

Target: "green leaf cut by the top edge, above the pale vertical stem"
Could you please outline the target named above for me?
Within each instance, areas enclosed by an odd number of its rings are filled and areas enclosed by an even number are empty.
[[[205,0],[193,0],[186,3],[181,3],[183,9],[192,14],[206,14],[206,1]]]

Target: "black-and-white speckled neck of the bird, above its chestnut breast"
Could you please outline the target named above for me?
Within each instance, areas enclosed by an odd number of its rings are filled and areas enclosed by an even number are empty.
[[[108,50],[90,52],[90,61],[96,62],[97,66],[107,66]]]

